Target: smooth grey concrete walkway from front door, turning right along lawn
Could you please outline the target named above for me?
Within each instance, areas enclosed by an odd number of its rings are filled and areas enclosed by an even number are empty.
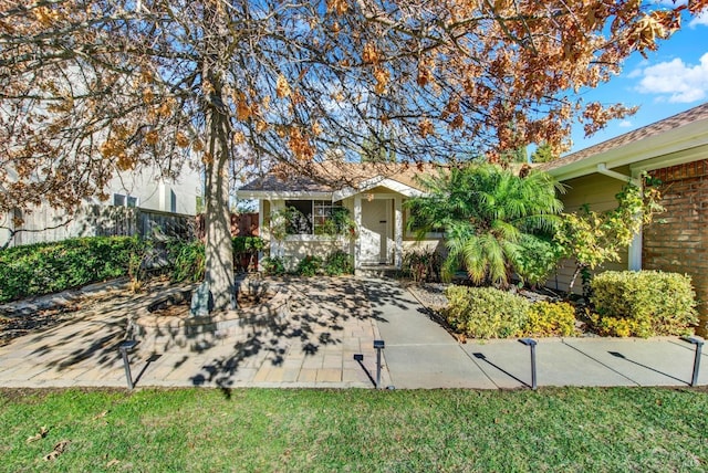
[[[397,389],[513,389],[531,386],[530,348],[517,339],[459,344],[393,281],[366,284],[382,314],[385,359]],[[698,383],[708,383],[708,347]],[[538,386],[687,386],[695,346],[677,337],[542,338]]]

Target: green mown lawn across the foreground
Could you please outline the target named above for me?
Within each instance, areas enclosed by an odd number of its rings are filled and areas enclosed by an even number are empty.
[[[708,393],[0,390],[0,432],[8,472],[706,471]]]

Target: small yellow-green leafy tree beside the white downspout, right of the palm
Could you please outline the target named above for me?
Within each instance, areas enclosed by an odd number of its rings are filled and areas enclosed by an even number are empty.
[[[575,260],[569,292],[573,291],[580,274],[589,283],[591,270],[620,261],[620,252],[629,246],[642,225],[664,211],[658,203],[660,193],[655,188],[643,192],[639,187],[627,183],[615,198],[614,210],[595,212],[585,204],[575,213],[562,214],[563,223],[558,228],[555,240],[563,246],[564,255]]]

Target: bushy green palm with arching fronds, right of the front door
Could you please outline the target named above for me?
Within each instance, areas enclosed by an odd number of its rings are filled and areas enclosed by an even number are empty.
[[[544,172],[519,177],[490,164],[455,167],[421,178],[426,197],[408,203],[410,229],[421,236],[442,229],[448,256],[442,277],[462,267],[476,284],[506,286],[523,277],[523,242],[552,233],[563,206],[563,187]]]

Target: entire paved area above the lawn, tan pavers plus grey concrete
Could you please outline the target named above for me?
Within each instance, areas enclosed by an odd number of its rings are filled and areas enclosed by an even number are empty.
[[[278,320],[251,318],[209,344],[131,354],[137,387],[372,388],[375,339],[385,341],[382,387],[508,389],[531,383],[529,348],[518,340],[458,344],[415,297],[391,280],[295,278]],[[73,301],[71,322],[0,347],[3,387],[125,387],[117,345],[126,315],[164,291],[105,287]],[[0,312],[2,307],[0,307]],[[708,349],[707,349],[708,351]],[[539,386],[687,386],[694,346],[678,338],[540,339]],[[356,360],[362,355],[363,360]],[[708,383],[702,356],[699,383]]]

